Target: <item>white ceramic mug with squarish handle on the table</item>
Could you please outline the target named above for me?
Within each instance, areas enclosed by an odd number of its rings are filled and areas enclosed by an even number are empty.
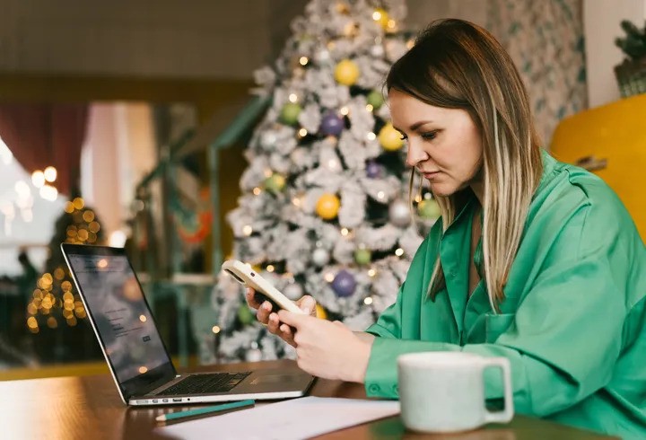
[[[504,410],[485,407],[485,368],[502,370]],[[410,353],[397,358],[401,417],[408,429],[449,433],[513,418],[509,359],[461,352]]]

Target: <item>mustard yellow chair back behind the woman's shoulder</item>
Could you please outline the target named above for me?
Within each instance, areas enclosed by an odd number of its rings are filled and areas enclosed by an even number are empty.
[[[646,94],[563,119],[550,151],[605,180],[646,241]]]

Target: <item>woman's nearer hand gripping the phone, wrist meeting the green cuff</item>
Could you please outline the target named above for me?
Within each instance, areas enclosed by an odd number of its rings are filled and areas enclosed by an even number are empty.
[[[363,383],[372,348],[372,338],[360,339],[339,321],[326,321],[281,310],[280,330],[293,335],[298,365],[315,376]],[[290,333],[291,334],[291,333]]]

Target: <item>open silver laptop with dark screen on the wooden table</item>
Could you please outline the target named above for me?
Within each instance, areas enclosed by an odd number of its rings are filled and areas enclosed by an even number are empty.
[[[62,243],[92,329],[127,405],[301,397],[314,377],[296,365],[177,374],[126,251]]]

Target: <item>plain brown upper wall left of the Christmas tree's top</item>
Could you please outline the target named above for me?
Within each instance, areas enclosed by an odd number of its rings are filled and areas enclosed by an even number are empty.
[[[4,0],[0,72],[249,77],[292,0]],[[282,39],[281,39],[282,40]]]

